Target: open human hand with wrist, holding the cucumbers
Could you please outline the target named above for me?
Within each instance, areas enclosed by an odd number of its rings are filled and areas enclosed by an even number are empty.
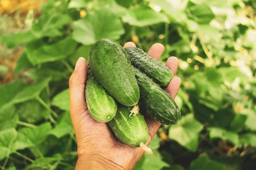
[[[127,42],[124,47],[134,46],[133,42]],[[160,59],[164,47],[156,43],[148,51],[148,55]],[[166,66],[175,74],[178,67],[178,59],[169,57]],[[87,63],[80,57],[76,68],[69,80],[70,86],[70,117],[77,140],[78,161],[76,170],[84,169],[118,169],[131,170],[143,156],[144,150],[140,147],[130,147],[113,134],[106,123],[97,122],[88,113],[85,103],[84,88],[87,76]],[[166,91],[175,99],[180,88],[181,80],[174,77],[169,83]],[[148,145],[157,133],[161,123],[144,116],[149,130]]]

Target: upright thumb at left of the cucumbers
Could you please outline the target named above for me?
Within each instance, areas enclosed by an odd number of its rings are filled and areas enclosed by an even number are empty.
[[[70,116],[78,117],[84,111],[87,110],[85,103],[84,88],[88,67],[86,60],[80,57],[76,62],[76,68],[69,79],[69,93],[70,93]]]

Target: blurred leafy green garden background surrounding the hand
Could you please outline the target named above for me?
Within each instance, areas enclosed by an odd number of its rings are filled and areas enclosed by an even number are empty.
[[[134,170],[256,169],[255,0],[44,1],[18,19],[35,2],[0,1],[1,170],[74,169],[68,79],[102,37],[180,60],[180,125],[162,125]]]

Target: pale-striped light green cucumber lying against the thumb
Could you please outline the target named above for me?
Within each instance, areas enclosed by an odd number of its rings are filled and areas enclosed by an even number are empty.
[[[116,101],[90,71],[87,74],[85,99],[88,112],[96,121],[108,122],[116,115]]]

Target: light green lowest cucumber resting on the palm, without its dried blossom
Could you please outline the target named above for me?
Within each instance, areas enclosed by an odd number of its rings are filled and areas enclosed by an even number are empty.
[[[140,147],[140,142],[145,144],[148,141],[148,127],[142,114],[129,117],[132,108],[118,104],[116,116],[107,124],[119,140],[129,146]]]

